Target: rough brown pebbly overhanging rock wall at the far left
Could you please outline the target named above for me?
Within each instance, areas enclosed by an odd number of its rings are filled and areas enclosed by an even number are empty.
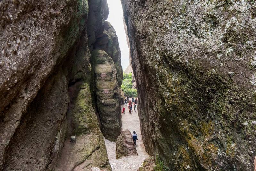
[[[0,169],[42,170],[62,146],[69,100],[61,64],[85,28],[88,4],[4,0],[0,11]]]

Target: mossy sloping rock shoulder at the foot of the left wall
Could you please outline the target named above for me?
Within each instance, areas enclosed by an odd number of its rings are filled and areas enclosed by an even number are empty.
[[[89,84],[77,82],[74,86],[78,95],[72,99],[68,116],[72,117],[76,143],[70,143],[69,139],[65,141],[55,170],[80,171],[93,167],[111,170],[103,135],[91,104]]]

